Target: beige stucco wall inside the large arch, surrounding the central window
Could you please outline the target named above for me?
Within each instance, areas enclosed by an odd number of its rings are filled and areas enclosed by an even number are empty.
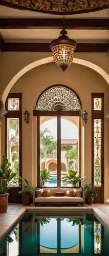
[[[46,53],[44,54],[46,55]],[[83,54],[80,56],[82,58]],[[93,55],[93,54],[92,54]],[[23,53],[24,56],[24,53]],[[91,54],[87,55],[91,60]],[[94,55],[93,55],[94,56]],[[104,56],[104,55],[103,55]],[[34,57],[35,59],[35,55]],[[32,58],[31,57],[31,58]],[[77,56],[76,56],[77,57]],[[20,57],[17,56],[20,60]],[[24,59],[23,59],[24,61]],[[96,62],[99,60],[96,59]],[[100,60],[101,61],[101,60]],[[20,61],[21,62],[21,61]],[[102,62],[102,61],[101,61]],[[6,63],[9,65],[9,63]],[[9,68],[12,76],[12,70],[17,66],[15,61],[12,62],[12,66]],[[24,64],[22,64],[23,66]],[[108,71],[107,63],[103,63],[105,69]],[[19,68],[21,66],[19,65]],[[15,73],[15,70],[14,70]],[[109,73],[109,72],[108,72]],[[3,76],[2,76],[3,77]],[[9,80],[9,77],[4,77],[4,84],[6,80]],[[23,115],[23,177],[32,181],[33,184],[36,184],[36,117],[32,117],[32,111],[35,109],[35,104],[39,94],[45,90],[47,87],[53,84],[65,84],[69,86],[79,95],[83,110],[89,114],[89,120],[84,126],[84,162],[83,174],[87,175],[89,178],[86,182],[91,180],[91,92],[104,92],[105,94],[105,114],[109,112],[108,96],[109,96],[109,87],[107,82],[94,70],[73,64],[66,72],[62,71],[55,66],[54,63],[49,63],[42,65],[40,67],[34,68],[31,71],[23,75],[19,80],[14,84],[11,92],[22,92],[23,93],[23,113],[26,109],[30,112],[30,122],[27,124],[24,121]],[[3,92],[3,91],[2,91]],[[108,146],[108,126],[109,120],[105,117],[105,143],[104,143],[104,163],[105,163],[105,200],[109,197],[109,146]],[[5,152],[5,120],[2,122],[2,155]]]

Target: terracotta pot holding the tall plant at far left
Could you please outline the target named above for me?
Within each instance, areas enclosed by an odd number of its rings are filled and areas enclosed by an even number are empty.
[[[8,196],[9,194],[0,194],[0,212],[6,212],[8,208]]]

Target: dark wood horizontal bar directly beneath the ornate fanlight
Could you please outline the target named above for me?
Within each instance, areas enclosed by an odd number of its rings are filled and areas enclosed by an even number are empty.
[[[80,116],[80,111],[41,111],[33,110],[33,116]]]

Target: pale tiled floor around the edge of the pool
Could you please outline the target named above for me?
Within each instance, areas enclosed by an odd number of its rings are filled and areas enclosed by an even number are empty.
[[[93,205],[83,205],[86,208],[96,208],[100,210],[102,219],[109,223],[109,204],[93,204]],[[37,208],[34,207],[34,205],[30,205],[28,208],[32,207],[32,210],[37,210]],[[33,208],[34,207],[34,208]],[[79,207],[79,209],[83,209],[84,207]],[[9,204],[8,210],[6,213],[0,214],[0,240],[4,236],[6,232],[10,229],[11,226],[13,226],[13,223],[17,221],[19,216],[23,214],[26,210],[27,206],[23,206],[22,204]],[[69,207],[70,209],[73,209],[73,207]],[[62,209],[62,208],[61,208]],[[64,208],[65,210],[67,209]],[[100,212],[98,214],[100,215]],[[102,213],[104,215],[102,215]]]

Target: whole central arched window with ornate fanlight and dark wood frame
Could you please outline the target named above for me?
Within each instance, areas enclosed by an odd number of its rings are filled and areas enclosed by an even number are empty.
[[[50,180],[43,186],[71,186],[63,182],[70,161],[81,175],[81,110],[76,92],[60,84],[49,87],[38,97],[33,110],[33,116],[37,116],[38,187],[42,167],[50,171]]]

